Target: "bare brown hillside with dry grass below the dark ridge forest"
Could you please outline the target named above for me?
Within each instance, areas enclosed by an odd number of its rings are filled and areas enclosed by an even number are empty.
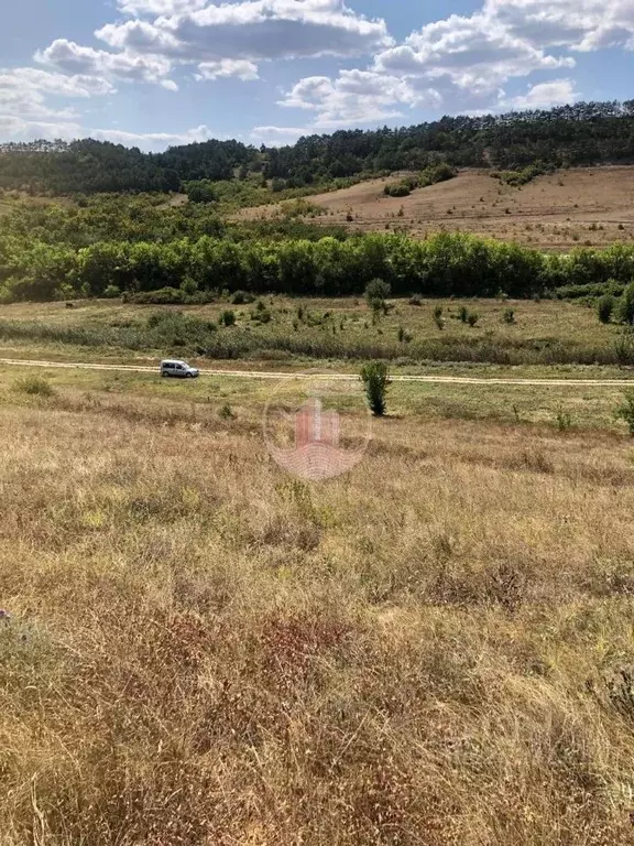
[[[462,170],[457,178],[408,197],[386,197],[383,187],[394,181],[373,180],[309,197],[327,213],[315,221],[357,231],[406,230],[418,238],[441,230],[464,231],[561,251],[634,238],[634,167],[558,171],[521,188],[502,184],[487,171]],[[276,212],[269,206],[242,215],[267,217]],[[347,220],[349,215],[352,221]]]

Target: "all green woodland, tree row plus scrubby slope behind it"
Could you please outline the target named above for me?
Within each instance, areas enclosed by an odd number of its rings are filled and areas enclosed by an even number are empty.
[[[597,296],[634,279],[634,245],[545,254],[463,232],[424,241],[393,232],[356,235],[292,213],[234,223],[206,204],[164,208],[157,196],[99,197],[84,206],[20,203],[2,220],[3,302],[162,289],[182,292],[174,302],[236,291],[357,296],[374,279],[396,296],[564,291],[569,297]]]

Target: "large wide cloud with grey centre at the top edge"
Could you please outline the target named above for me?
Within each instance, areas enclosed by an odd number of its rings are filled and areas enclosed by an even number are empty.
[[[110,23],[95,34],[117,50],[184,62],[354,56],[392,44],[385,21],[357,14],[343,0],[207,4],[153,22]]]

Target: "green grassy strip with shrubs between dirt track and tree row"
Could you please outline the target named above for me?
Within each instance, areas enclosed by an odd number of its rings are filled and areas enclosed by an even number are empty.
[[[262,312],[253,304],[233,307],[236,326],[227,327],[218,325],[227,311],[225,301],[181,310],[111,301],[79,303],[73,310],[63,303],[15,304],[2,308],[0,343],[282,362],[384,358],[404,366],[614,366],[622,361],[621,327],[600,324],[594,310],[584,305],[496,300],[467,301],[467,305],[447,300],[422,301],[422,306],[404,300],[393,304],[387,315],[373,321],[362,300],[266,296]],[[434,319],[438,307],[445,328]],[[512,324],[504,319],[510,307]],[[477,325],[459,319],[461,308],[478,314]],[[261,314],[266,323],[259,318]]]

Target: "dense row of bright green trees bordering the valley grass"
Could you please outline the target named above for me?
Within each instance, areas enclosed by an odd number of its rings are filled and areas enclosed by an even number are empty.
[[[561,286],[626,284],[634,279],[634,246],[544,254],[514,243],[466,234],[426,241],[402,235],[338,240],[249,239],[203,236],[167,243],[69,243],[0,239],[0,299],[55,300],[119,296],[178,289],[221,293],[361,296],[372,280],[394,296],[557,295]]]

